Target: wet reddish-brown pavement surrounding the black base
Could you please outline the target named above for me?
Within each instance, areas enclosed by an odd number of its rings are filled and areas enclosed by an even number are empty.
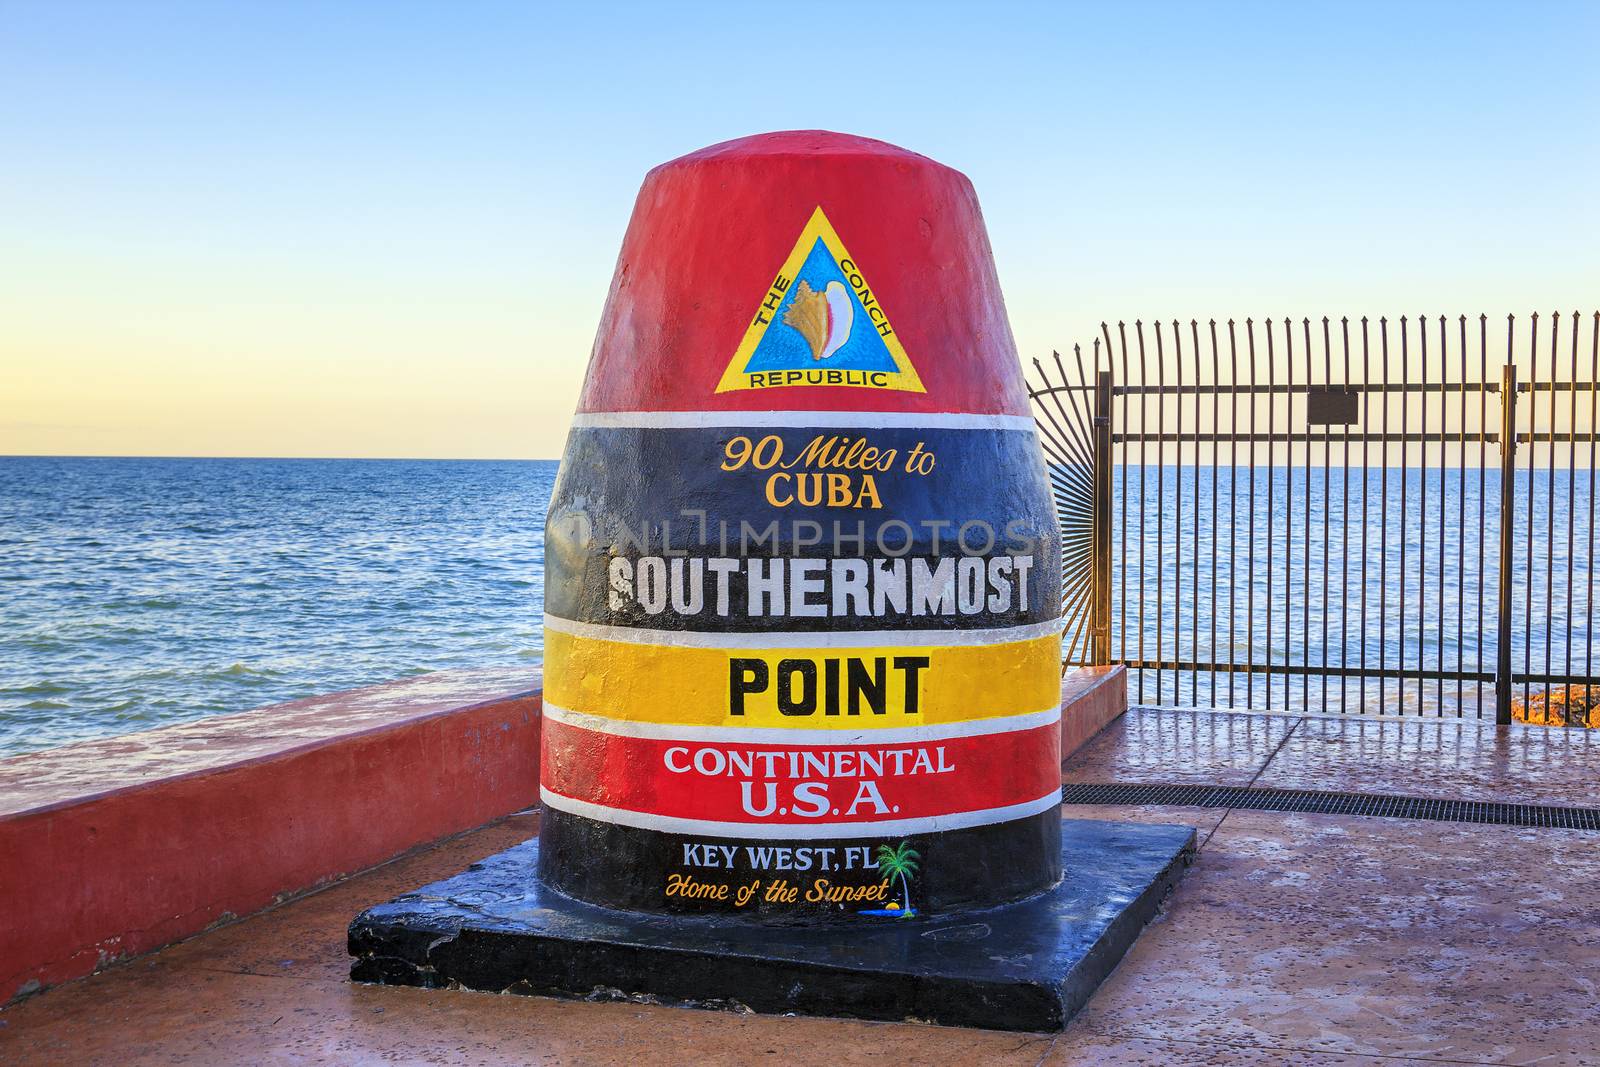
[[[1067,781],[1594,806],[1600,739],[1134,709]],[[5,1064],[1597,1064],[1600,833],[1072,806],[1200,856],[1061,1035],[355,985],[363,907],[538,832],[514,816],[0,1011]]]

